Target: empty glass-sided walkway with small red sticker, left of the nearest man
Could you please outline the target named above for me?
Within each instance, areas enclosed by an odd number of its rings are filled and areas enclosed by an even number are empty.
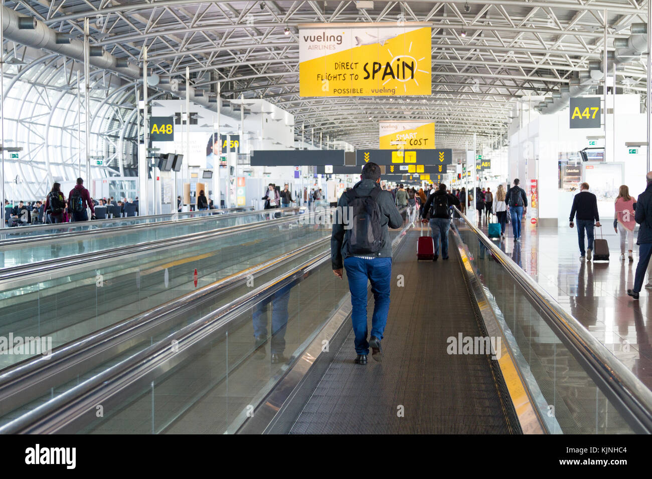
[[[310,215],[291,215],[0,270],[0,336],[47,337],[59,347],[326,237],[323,227],[306,217]],[[0,355],[0,368],[27,357]]]

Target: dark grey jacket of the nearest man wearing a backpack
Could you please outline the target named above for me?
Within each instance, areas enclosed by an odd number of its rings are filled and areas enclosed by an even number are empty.
[[[357,182],[353,188],[359,188],[359,194],[361,196],[367,196],[372,191],[372,188],[380,188],[380,186],[373,180],[362,180]],[[381,240],[380,250],[377,255],[379,257],[391,257],[392,242],[389,239],[388,226],[393,229],[400,228],[403,225],[403,217],[394,205],[394,197],[389,191],[381,192],[378,195],[377,202],[378,208],[380,209],[380,225],[383,230],[383,239]],[[344,259],[350,256],[348,241],[344,234],[346,230],[340,217],[340,211],[347,208],[348,205],[348,196],[343,194],[340,196],[340,201],[337,203],[338,210],[336,210],[333,217],[333,233],[331,235],[331,263],[333,263],[333,269],[344,267]],[[347,220],[350,220],[348,214]]]

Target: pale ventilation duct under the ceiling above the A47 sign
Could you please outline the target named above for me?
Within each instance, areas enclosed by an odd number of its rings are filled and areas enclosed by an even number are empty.
[[[623,65],[640,59],[647,53],[647,24],[632,23],[632,35],[628,38],[614,38],[615,51],[607,51],[607,71],[614,65]],[[596,86],[604,78],[604,60],[589,61],[589,69],[579,72],[578,78],[573,78],[568,85],[561,85],[559,92],[552,94],[552,98],[540,102],[535,109],[544,115],[556,113],[569,104],[571,96],[580,96]]]

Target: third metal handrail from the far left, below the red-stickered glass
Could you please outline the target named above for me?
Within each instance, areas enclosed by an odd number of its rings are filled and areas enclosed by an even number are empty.
[[[160,329],[166,318],[183,313],[192,302],[226,291],[251,275],[264,274],[265,270],[282,266],[298,255],[325,244],[329,239],[330,235],[325,236],[301,248],[263,261],[227,278],[190,291],[179,298],[70,341],[53,349],[52,355],[48,358],[42,356],[29,358],[0,371],[0,416],[42,396],[44,389],[55,387],[78,375],[79,371],[70,372],[76,366],[81,364],[84,370],[90,370],[102,362],[107,354],[115,355],[120,352],[117,350],[127,349],[130,347],[130,342],[136,340],[138,336],[143,333],[151,334],[153,328]],[[40,388],[35,385],[40,385]]]

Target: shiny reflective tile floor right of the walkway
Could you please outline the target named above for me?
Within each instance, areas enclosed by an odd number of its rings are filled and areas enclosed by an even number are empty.
[[[619,236],[611,225],[604,222],[602,227],[609,243],[608,262],[580,260],[576,229],[537,227],[529,220],[520,242],[514,242],[508,224],[507,238],[496,244],[652,388],[652,290],[643,289],[638,301],[627,296],[634,284],[638,246],[634,244],[633,263],[627,252],[620,261]],[[486,232],[484,222],[481,227]]]

